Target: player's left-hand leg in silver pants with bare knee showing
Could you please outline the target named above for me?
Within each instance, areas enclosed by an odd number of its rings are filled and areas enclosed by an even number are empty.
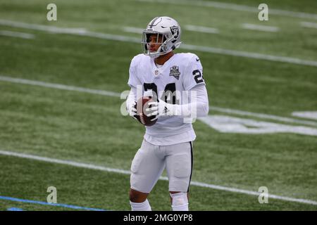
[[[161,176],[164,167],[164,155],[160,147],[144,140],[131,165],[130,204],[132,210],[151,210],[147,195]]]

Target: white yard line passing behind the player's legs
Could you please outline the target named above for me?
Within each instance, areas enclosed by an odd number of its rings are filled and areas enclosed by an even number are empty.
[[[69,166],[73,166],[73,167],[81,167],[81,168],[85,168],[85,169],[97,169],[97,170],[101,170],[104,172],[114,172],[114,173],[118,173],[118,174],[128,174],[128,175],[130,174],[130,171],[124,170],[124,169],[103,167],[103,166],[92,165],[92,164],[87,164],[87,163],[83,163],[83,162],[74,162],[74,161],[70,161],[70,160],[59,160],[59,159],[55,159],[55,158],[46,158],[46,157],[42,157],[42,156],[38,156],[38,155],[16,153],[16,152],[11,152],[11,151],[7,151],[7,150],[0,150],[0,155],[8,155],[8,156],[13,156],[13,157],[18,157],[18,158],[26,158],[29,160],[38,160],[38,161],[42,161],[42,162],[51,162],[51,163],[56,163],[56,164],[61,164],[61,165],[69,165]],[[167,181],[168,177],[161,176],[160,180]],[[197,182],[197,181],[192,181],[191,185],[192,186],[200,186],[200,187],[204,187],[204,188],[216,189],[216,190],[220,190],[220,191],[244,193],[247,195],[256,195],[256,196],[260,195],[260,193],[256,192],[256,191],[247,191],[247,190],[243,190],[243,189],[239,189],[239,188],[229,188],[229,187],[225,187],[225,186],[206,184],[206,183],[201,183],[201,182]],[[285,197],[285,196],[280,196],[280,195],[272,195],[272,194],[268,194],[268,198],[285,200],[285,201],[296,202],[296,203],[306,203],[309,205],[317,205],[316,201],[306,200],[306,199],[302,199],[302,198],[290,198],[290,197]]]

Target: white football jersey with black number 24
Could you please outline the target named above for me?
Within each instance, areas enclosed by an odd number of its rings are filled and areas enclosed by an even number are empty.
[[[143,96],[156,94],[167,103],[189,103],[184,94],[194,86],[205,85],[200,60],[193,53],[175,53],[159,68],[154,58],[139,54],[132,59],[129,72],[130,86],[139,89],[142,86]],[[146,127],[144,135],[146,141],[159,146],[194,141],[195,138],[192,123],[185,122],[181,116],[159,117],[156,124]]]

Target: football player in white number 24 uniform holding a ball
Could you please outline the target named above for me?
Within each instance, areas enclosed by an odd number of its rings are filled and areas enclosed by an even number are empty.
[[[180,37],[180,25],[173,18],[154,18],[142,34],[144,53],[130,64],[128,112],[136,115],[140,88],[142,95],[150,92],[156,99],[149,103],[147,115],[157,118],[153,126],[146,126],[142,146],[132,160],[132,210],[151,210],[147,196],[166,168],[172,209],[188,211],[196,135],[192,123],[185,119],[208,115],[209,101],[198,56],[173,52],[182,43]],[[187,94],[186,101],[182,93]]]

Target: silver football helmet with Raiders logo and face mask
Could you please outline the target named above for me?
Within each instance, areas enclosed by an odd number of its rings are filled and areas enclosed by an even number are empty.
[[[180,25],[173,18],[167,16],[154,18],[147,25],[147,29],[142,33],[142,49],[144,55],[157,58],[177,49],[180,44],[182,44],[180,34]],[[156,35],[156,44],[160,46],[156,51],[151,51],[150,45],[153,44],[151,39],[154,35]]]

